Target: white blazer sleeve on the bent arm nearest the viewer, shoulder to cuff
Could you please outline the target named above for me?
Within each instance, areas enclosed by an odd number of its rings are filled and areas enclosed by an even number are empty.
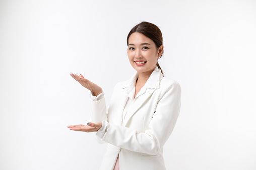
[[[149,128],[136,133],[128,127],[109,123],[102,140],[135,152],[155,155],[169,138],[180,111],[181,88],[177,82],[163,91],[157,103]]]

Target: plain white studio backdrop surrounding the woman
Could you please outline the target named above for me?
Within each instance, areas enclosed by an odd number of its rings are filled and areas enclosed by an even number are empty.
[[[89,91],[134,74],[126,36],[163,33],[165,76],[182,88],[167,169],[256,169],[256,1],[0,1],[0,169],[98,169],[105,144],[68,125],[90,120]]]

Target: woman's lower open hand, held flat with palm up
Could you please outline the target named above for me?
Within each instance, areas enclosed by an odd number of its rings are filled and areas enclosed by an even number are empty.
[[[68,126],[68,128],[70,128],[70,130],[74,130],[74,131],[84,131],[84,132],[94,132],[94,131],[98,131],[102,126],[102,122],[99,121],[98,123],[87,123],[87,125],[83,125],[83,124],[78,124],[78,125],[70,125]]]

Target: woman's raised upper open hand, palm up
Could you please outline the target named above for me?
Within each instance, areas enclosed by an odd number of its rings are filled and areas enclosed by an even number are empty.
[[[85,79],[82,74],[80,76],[71,73],[70,74],[75,80],[77,80],[82,86],[90,90],[94,96],[98,96],[100,93],[102,93],[102,89],[97,84],[90,82],[89,80]]]

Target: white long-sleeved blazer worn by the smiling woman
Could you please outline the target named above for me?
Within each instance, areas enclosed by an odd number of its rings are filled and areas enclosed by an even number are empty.
[[[108,111],[104,97],[91,101],[92,122],[109,122],[103,137],[96,136],[98,142],[108,143],[100,169],[112,170],[118,154],[120,170],[166,169],[163,145],[179,115],[181,88],[178,82],[163,77],[157,67],[149,80],[153,83],[145,84],[145,92],[130,106],[124,121],[127,81],[114,87]]]

